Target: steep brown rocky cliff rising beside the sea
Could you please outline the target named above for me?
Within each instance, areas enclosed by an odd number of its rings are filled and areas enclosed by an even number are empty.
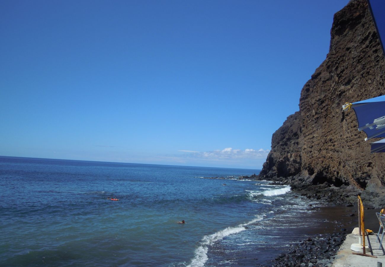
[[[273,134],[259,179],[362,191],[373,205],[385,204],[385,153],[370,154],[354,111],[341,110],[345,102],[385,95],[384,82],[385,59],[367,2],[350,1],[334,15],[329,53],[303,86],[300,111]]]

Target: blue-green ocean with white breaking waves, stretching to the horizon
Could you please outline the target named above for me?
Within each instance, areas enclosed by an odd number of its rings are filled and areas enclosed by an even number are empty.
[[[270,265],[323,218],[258,172],[0,157],[0,265]]]

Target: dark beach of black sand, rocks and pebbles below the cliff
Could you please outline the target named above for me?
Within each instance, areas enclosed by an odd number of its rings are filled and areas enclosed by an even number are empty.
[[[242,176],[239,179],[261,180],[255,174],[252,176]],[[350,250],[351,243],[347,244],[345,240],[347,236],[351,235],[352,230],[358,227],[357,196],[361,196],[363,199],[365,229],[370,229],[373,232],[378,231],[378,220],[375,212],[381,210],[382,205],[384,205],[384,199],[376,196],[373,191],[360,190],[353,186],[345,185],[335,187],[328,183],[309,185],[294,179],[280,181],[276,178],[268,180],[272,184],[290,185],[291,191],[298,197],[319,201],[320,206],[311,207],[310,209],[319,209],[319,214],[325,216],[325,222],[320,223],[318,233],[310,234],[308,238],[298,240],[288,250],[282,250],[278,257],[271,261],[271,266],[323,267],[332,266],[335,259],[338,260],[336,266],[345,266],[343,263],[341,265],[340,256],[337,254],[345,249],[345,254],[352,255],[353,251]],[[326,218],[333,218],[332,220],[335,223],[333,231],[328,229],[330,228],[330,220]],[[351,238],[348,238],[347,242],[351,242],[350,240]]]

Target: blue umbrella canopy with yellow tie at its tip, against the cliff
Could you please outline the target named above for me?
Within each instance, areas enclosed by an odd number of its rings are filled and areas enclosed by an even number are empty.
[[[352,107],[356,113],[358,130],[367,134],[367,139],[385,137],[385,95],[358,101],[343,107]]]

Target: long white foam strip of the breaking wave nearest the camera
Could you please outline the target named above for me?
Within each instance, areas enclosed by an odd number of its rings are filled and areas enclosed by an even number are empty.
[[[204,263],[208,260],[207,252],[209,250],[209,245],[213,245],[214,242],[221,240],[228,235],[233,235],[234,233],[239,233],[243,230],[246,230],[245,226],[263,220],[264,216],[266,215],[258,215],[257,218],[249,221],[248,223],[243,223],[234,227],[230,226],[224,230],[213,233],[212,235],[205,235],[201,240],[200,246],[195,249],[195,257],[191,260],[191,263],[187,265],[187,267],[204,266]]]

